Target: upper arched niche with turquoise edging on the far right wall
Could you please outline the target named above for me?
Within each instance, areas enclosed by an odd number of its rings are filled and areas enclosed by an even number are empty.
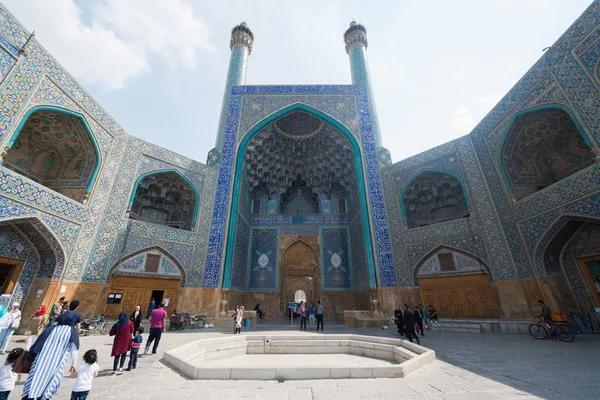
[[[553,105],[515,115],[498,164],[507,188],[521,200],[590,166],[595,158],[572,113]]]

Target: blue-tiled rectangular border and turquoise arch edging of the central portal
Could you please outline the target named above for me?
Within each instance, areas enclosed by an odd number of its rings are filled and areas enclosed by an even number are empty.
[[[357,196],[361,212],[360,226],[364,237],[364,254],[366,270],[368,273],[368,286],[377,287],[378,281],[382,286],[394,286],[396,283],[389,233],[387,230],[387,218],[383,207],[383,196],[381,182],[378,173],[376,149],[369,124],[368,111],[363,107],[366,103],[364,88],[359,87],[302,87],[303,91],[324,93],[331,90],[332,93],[349,92],[356,94],[358,100],[359,119],[358,124],[362,130],[361,148],[356,138],[340,122],[331,116],[301,103],[295,103],[264,118],[243,137],[239,146],[237,143],[237,124],[239,120],[240,106],[243,93],[261,94],[279,93],[282,88],[287,87],[234,87],[230,104],[230,119],[227,134],[222,149],[222,159],[219,172],[219,180],[216,193],[216,203],[213,210],[213,220],[208,244],[206,270],[204,275],[205,287],[230,288],[233,267],[233,254],[236,238],[236,221],[238,220],[238,207],[242,193],[242,167],[244,165],[244,153],[250,140],[268,124],[285,117],[293,112],[301,111],[333,126],[341,133],[352,148],[354,157],[354,168],[356,170]],[[332,89],[333,88],[333,89]],[[290,87],[288,90],[299,90],[299,87]],[[317,127],[318,128],[318,127]],[[364,159],[363,159],[364,151]],[[366,164],[365,164],[366,163]],[[233,179],[233,182],[231,182]],[[366,182],[368,182],[368,187]],[[367,188],[370,192],[367,194]],[[230,197],[231,196],[231,197]],[[229,199],[231,198],[231,203]],[[373,221],[370,220],[373,218]],[[384,223],[385,222],[385,223]],[[376,226],[372,227],[371,224]],[[385,225],[385,226],[384,226]],[[223,249],[225,247],[225,249]],[[377,247],[378,263],[375,261],[375,250]],[[222,263],[222,260],[224,262]],[[376,265],[379,268],[376,271]],[[223,265],[223,275],[220,276]]]

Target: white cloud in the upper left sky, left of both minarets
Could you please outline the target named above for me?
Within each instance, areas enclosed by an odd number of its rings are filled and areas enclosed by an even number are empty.
[[[149,56],[194,69],[211,50],[209,30],[188,0],[104,0],[84,23],[74,0],[4,0],[6,7],[78,80],[106,90],[150,70]]]

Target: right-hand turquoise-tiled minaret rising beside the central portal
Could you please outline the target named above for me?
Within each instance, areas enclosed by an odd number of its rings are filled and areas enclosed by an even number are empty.
[[[352,21],[350,27],[344,33],[344,42],[346,43],[346,53],[350,57],[352,84],[363,85],[367,89],[373,137],[375,138],[375,147],[379,149],[382,147],[381,131],[379,130],[379,117],[377,116],[373,85],[371,84],[369,65],[367,63],[367,28],[356,23],[356,21]]]

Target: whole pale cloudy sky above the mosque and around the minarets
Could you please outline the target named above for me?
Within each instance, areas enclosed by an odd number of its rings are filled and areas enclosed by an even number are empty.
[[[368,31],[394,162],[463,136],[590,0],[2,0],[133,136],[205,162],[231,28],[254,33],[246,84],[350,84],[343,33]]]

